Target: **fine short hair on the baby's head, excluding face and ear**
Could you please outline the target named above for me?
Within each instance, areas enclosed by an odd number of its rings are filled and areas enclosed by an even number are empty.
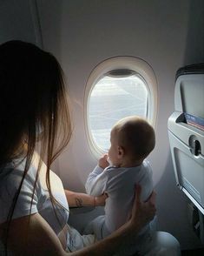
[[[155,131],[144,118],[131,116],[122,118],[113,127],[118,145],[133,158],[146,158],[155,148]]]

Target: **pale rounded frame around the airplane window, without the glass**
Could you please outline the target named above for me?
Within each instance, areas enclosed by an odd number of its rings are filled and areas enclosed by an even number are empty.
[[[84,124],[85,132],[88,140],[89,148],[95,158],[99,158],[104,151],[96,145],[95,140],[91,134],[89,125],[89,98],[95,84],[104,77],[109,71],[113,70],[130,70],[135,71],[143,80],[148,90],[148,121],[153,127],[156,126],[157,111],[158,111],[158,85],[155,77],[155,71],[144,60],[139,57],[111,57],[97,64],[93,71],[91,71],[86,83],[84,94]]]

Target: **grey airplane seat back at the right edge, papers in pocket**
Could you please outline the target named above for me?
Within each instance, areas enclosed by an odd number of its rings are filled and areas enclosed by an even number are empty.
[[[168,137],[176,183],[198,209],[198,235],[204,244],[204,64],[177,71]]]

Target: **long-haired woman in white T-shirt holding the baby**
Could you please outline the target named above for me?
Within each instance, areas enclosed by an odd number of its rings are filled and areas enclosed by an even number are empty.
[[[153,219],[155,194],[141,203],[137,187],[132,216],[124,226],[100,242],[81,236],[81,244],[73,245],[73,230],[66,225],[69,205],[103,205],[105,196],[64,192],[61,180],[49,171],[71,136],[63,71],[56,58],[34,44],[0,45],[0,87],[1,255],[113,255],[124,250]]]

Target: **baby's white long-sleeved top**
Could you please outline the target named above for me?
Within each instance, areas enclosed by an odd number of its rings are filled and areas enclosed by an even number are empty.
[[[87,193],[93,196],[99,196],[103,192],[109,194],[104,209],[107,229],[104,233],[114,232],[127,222],[132,210],[136,184],[140,184],[142,188],[141,200],[147,200],[153,191],[153,180],[152,169],[146,160],[140,166],[129,168],[109,166],[103,171],[101,167],[96,166],[89,174],[85,185]],[[103,223],[99,224],[97,230],[101,229],[100,225]]]

